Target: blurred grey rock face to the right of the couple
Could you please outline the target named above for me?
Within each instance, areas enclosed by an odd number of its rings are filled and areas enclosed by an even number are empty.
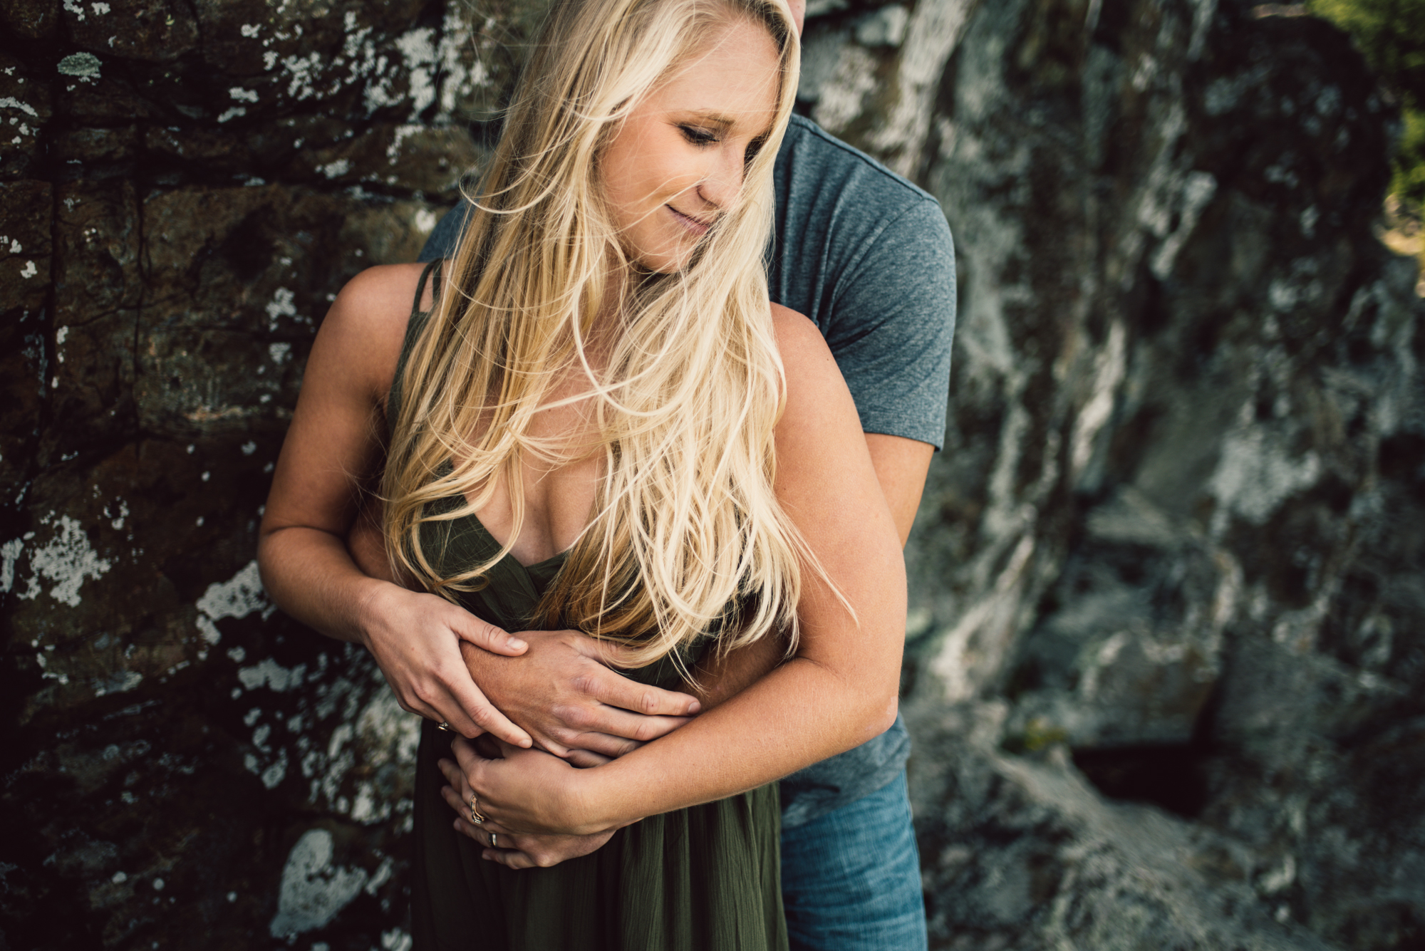
[[[906,672],[942,947],[1425,941],[1425,309],[1384,103],[1281,13],[980,4],[888,151],[965,292]],[[814,115],[876,144],[862,28]]]

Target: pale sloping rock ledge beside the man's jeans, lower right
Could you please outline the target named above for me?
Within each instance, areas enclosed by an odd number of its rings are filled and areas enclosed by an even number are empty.
[[[915,732],[931,947],[1330,947],[1273,920],[1233,840],[1104,802],[1062,746],[1040,757],[985,746],[1003,715],[996,703],[940,708],[935,727]]]

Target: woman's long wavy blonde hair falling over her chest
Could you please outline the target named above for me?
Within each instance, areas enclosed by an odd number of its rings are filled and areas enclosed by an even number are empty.
[[[641,273],[604,205],[598,157],[638,101],[737,17],[779,48],[771,134],[690,262]],[[450,521],[503,480],[519,537],[522,460],[577,457],[530,436],[530,420],[559,380],[581,373],[587,390],[574,399],[593,396],[604,468],[591,520],[532,625],[616,639],[637,663],[710,631],[724,651],[778,629],[795,642],[799,564],[815,559],[772,490],[785,386],[764,253],[798,57],[784,0],[556,1],[408,356],[382,484],[398,569],[452,599],[484,584],[509,545],[446,569],[428,558],[423,532],[440,550]],[[586,345],[600,310],[610,319],[606,292],[618,299],[617,330],[596,372]]]

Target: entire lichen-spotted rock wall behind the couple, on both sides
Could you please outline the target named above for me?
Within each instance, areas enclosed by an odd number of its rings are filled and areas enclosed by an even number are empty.
[[[0,7],[0,948],[408,945],[415,723],[255,528],[325,303],[455,201],[537,6]],[[1391,110],[1294,13],[809,11],[804,108],[959,245],[933,947],[1425,942],[1425,310]]]

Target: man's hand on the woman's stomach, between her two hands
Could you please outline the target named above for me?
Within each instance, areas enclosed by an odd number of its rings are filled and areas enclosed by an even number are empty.
[[[687,693],[661,690],[611,671],[617,645],[579,631],[522,631],[529,651],[500,656],[462,643],[470,678],[534,743],[576,766],[597,766],[665,736],[703,709]]]

